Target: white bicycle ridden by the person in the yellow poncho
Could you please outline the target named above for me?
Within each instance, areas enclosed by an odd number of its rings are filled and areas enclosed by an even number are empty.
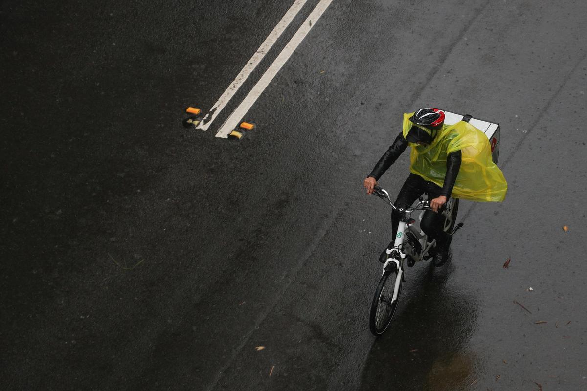
[[[421,260],[430,259],[432,257],[430,250],[433,249],[436,240],[428,242],[428,236],[420,228],[414,227],[416,220],[411,218],[411,213],[416,210],[431,209],[430,200],[424,200],[420,197],[419,202],[413,208],[402,208],[393,205],[389,193],[380,186],[375,186],[373,194],[389,203],[400,214],[396,239],[393,248],[387,249],[388,257],[383,264],[383,274],[377,284],[371,303],[369,328],[373,335],[379,336],[389,327],[393,314],[396,312],[402,292],[402,283],[406,282],[403,276],[404,261],[407,260],[408,267],[413,267]],[[454,227],[458,213],[458,199],[450,198],[440,213],[445,217],[444,232],[450,232],[452,235],[463,227],[463,223],[459,223],[456,228]],[[423,213],[420,213],[420,221],[422,215]]]

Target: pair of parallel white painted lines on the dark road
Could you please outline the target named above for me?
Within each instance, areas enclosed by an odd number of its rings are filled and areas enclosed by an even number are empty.
[[[292,39],[289,40],[288,44],[284,47],[281,53],[279,53],[275,61],[271,64],[271,66],[269,66],[263,76],[261,76],[261,79],[257,81],[257,84],[255,84],[252,90],[247,94],[247,97],[244,98],[236,110],[230,115],[230,117],[228,117],[228,120],[225,121],[220,130],[218,130],[216,137],[228,138],[228,135],[232,132],[232,130],[234,130],[235,127],[237,127],[242,117],[247,114],[247,111],[249,111],[255,101],[257,101],[257,98],[261,96],[269,83],[271,83],[271,80],[273,80],[281,67],[284,66],[289,57],[291,57],[291,55],[294,53],[295,49],[306,37],[306,35],[308,35],[312,27],[316,24],[316,22],[318,22],[318,19],[320,19],[332,1],[333,0],[321,0],[318,5],[316,5],[308,18],[306,18],[306,20],[303,22],[302,26],[298,29],[298,31],[296,31]],[[243,67],[236,79],[232,81],[228,89],[224,91],[224,94],[222,94],[214,106],[212,106],[210,112],[205,115],[204,120],[200,123],[200,125],[198,125],[198,129],[208,130],[208,127],[210,127],[212,121],[214,121],[217,115],[220,114],[222,109],[228,104],[228,101],[231,100],[234,94],[242,86],[244,81],[247,80],[255,67],[257,67],[263,57],[265,57],[266,53],[269,51],[269,49],[271,49],[276,40],[289,26],[289,24],[302,9],[303,5],[306,4],[306,2],[308,2],[308,0],[296,0],[294,5],[288,9],[288,12],[286,12],[281,21],[277,23],[273,31],[269,34],[257,52],[255,52],[255,54]]]

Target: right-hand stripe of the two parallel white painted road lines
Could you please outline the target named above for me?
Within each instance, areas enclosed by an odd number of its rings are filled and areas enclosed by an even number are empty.
[[[332,3],[333,0],[321,0],[321,2],[316,5],[316,8],[313,9],[308,19],[303,22],[303,25],[296,31],[295,35],[289,40],[288,44],[284,47],[284,50],[279,53],[279,56],[275,59],[275,61],[269,66],[269,69],[265,71],[261,79],[257,81],[255,87],[248,93],[247,97],[239,104],[237,109],[234,113],[228,117],[228,120],[222,125],[216,137],[221,138],[228,138],[228,135],[235,127],[237,127],[238,122],[242,119],[242,117],[247,114],[251,106],[257,101],[257,98],[261,96],[263,91],[266,87],[271,83],[271,80],[275,77],[275,75],[279,72],[282,66],[284,66],[285,62],[289,59],[289,57],[294,53],[294,50],[298,47],[298,45],[302,42],[306,35],[308,35],[309,31],[312,29],[313,26],[316,25],[318,19],[322,16],[326,8]]]

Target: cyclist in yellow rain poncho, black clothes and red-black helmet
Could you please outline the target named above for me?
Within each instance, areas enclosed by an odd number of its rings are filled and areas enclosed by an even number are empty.
[[[443,230],[444,217],[439,213],[451,196],[475,201],[502,201],[507,182],[501,170],[491,161],[487,137],[464,121],[444,125],[444,113],[437,108],[420,108],[404,114],[403,130],[379,159],[363,185],[367,194],[385,171],[410,145],[410,176],[400,189],[395,205],[406,208],[427,193],[431,209],[424,212],[420,227],[431,239],[436,239],[432,251],[434,263],[444,264],[452,236]],[[397,234],[400,212],[393,210],[392,249]],[[379,261],[384,263],[384,249]]]

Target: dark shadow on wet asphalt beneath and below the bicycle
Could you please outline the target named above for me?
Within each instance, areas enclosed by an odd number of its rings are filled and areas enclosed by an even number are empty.
[[[467,293],[447,288],[452,267],[430,265],[409,280],[413,293],[409,297],[404,290],[390,328],[373,342],[361,390],[453,391],[475,381],[478,360],[468,341],[477,304]]]

